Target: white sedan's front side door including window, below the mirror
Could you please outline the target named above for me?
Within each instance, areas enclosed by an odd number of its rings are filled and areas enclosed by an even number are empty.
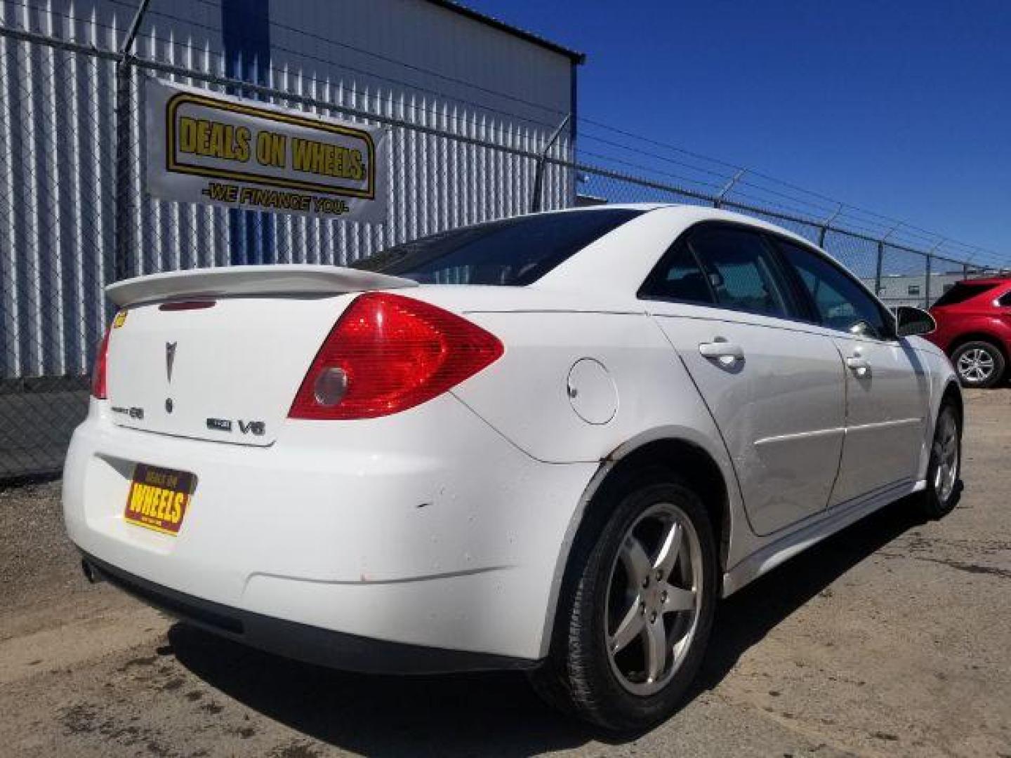
[[[916,351],[895,337],[892,316],[841,267],[801,245],[776,245],[846,367],[846,436],[831,505],[913,479],[930,401]]]

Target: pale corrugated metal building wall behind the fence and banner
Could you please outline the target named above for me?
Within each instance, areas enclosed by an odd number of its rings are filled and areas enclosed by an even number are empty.
[[[445,135],[393,127],[385,224],[151,200],[143,156],[133,150],[126,167],[130,274],[261,260],[342,264],[529,209],[534,161],[454,136],[540,150],[570,107],[571,62],[564,56],[424,0],[249,5],[257,6],[269,13],[269,61],[237,61],[244,52],[225,50],[216,0],[155,0],[134,54],[193,72],[241,74],[276,90],[258,95],[276,104],[334,117],[341,111],[326,104],[345,106]],[[134,8],[120,0],[0,0],[0,23],[114,51]],[[131,69],[135,148],[146,129],[143,78],[165,75]],[[101,290],[114,270],[115,148],[110,58],[0,35],[0,377],[87,372],[109,315]],[[570,155],[567,135],[552,155]],[[573,201],[572,172],[549,167],[544,207]]]

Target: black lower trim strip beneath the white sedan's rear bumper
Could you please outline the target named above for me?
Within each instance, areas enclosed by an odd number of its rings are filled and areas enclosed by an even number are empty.
[[[531,669],[538,661],[373,640],[273,619],[162,587],[94,556],[84,561],[97,578],[169,615],[268,653],[321,666],[374,674]]]

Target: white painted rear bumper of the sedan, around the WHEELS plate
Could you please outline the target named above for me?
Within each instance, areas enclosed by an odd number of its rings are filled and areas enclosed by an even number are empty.
[[[123,519],[136,463],[196,476],[178,536]],[[263,448],[124,429],[93,401],[68,452],[64,516],[103,573],[208,603],[258,647],[284,652],[261,630],[291,623],[295,640],[339,634],[323,650],[344,668],[378,670],[344,655],[363,639],[533,662],[594,470],[530,458],[452,395],[395,422],[286,422]]]

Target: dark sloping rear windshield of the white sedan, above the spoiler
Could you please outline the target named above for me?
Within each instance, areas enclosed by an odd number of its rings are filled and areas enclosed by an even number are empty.
[[[352,267],[426,284],[522,287],[643,212],[571,210],[479,223],[387,248]]]

